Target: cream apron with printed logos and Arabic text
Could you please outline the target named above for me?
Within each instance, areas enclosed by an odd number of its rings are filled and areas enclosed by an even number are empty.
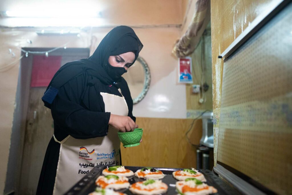
[[[121,90],[119,89],[121,93]],[[105,112],[128,116],[128,106],[124,97],[100,93],[105,103]],[[98,120],[98,119],[96,119]],[[70,135],[62,141],[53,194],[67,192],[96,165],[120,164],[120,140],[117,129],[109,126],[107,136],[91,139],[75,139]]]

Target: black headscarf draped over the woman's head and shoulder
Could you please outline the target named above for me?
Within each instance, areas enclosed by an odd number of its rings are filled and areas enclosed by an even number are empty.
[[[48,88],[42,97],[45,106],[51,108],[51,103],[55,99],[60,87],[86,70],[88,75],[97,77],[104,84],[114,84],[119,80],[124,80],[119,76],[114,76],[115,72],[121,70],[120,67],[112,67],[108,63],[111,55],[120,55],[132,51],[135,53],[135,60],[143,45],[131,27],[118,26],[112,29],[100,42],[93,55],[88,59],[69,62],[62,66],[54,75]],[[132,63],[132,64],[133,64]],[[66,71],[64,71],[66,69]],[[124,69],[124,68],[122,68]],[[123,70],[125,71],[125,69]],[[126,72],[126,71],[125,71]],[[125,82],[122,82],[125,83]],[[88,83],[86,83],[87,85]],[[92,85],[94,83],[90,83]],[[121,86],[121,89],[124,88]]]

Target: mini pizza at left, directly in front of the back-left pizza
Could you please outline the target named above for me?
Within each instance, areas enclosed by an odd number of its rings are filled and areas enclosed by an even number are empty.
[[[101,175],[95,180],[95,184],[103,189],[112,188],[116,190],[128,188],[130,186],[127,177],[117,175]]]

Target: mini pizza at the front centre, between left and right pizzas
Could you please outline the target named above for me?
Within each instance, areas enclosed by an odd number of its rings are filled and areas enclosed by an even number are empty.
[[[166,193],[168,187],[161,180],[145,180],[131,185],[130,191],[133,194],[157,195]]]

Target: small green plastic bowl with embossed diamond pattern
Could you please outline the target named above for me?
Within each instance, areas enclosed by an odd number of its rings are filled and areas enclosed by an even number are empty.
[[[123,143],[124,147],[133,147],[140,145],[140,140],[142,138],[143,129],[134,129],[130,132],[118,132],[120,141]]]

